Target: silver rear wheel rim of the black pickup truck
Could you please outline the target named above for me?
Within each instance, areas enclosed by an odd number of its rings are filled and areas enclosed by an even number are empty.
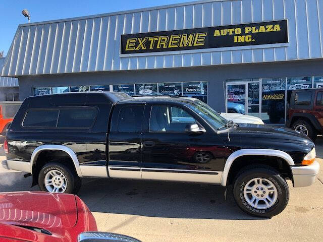
[[[64,193],[67,182],[65,175],[59,170],[50,170],[46,173],[45,188],[49,193]]]

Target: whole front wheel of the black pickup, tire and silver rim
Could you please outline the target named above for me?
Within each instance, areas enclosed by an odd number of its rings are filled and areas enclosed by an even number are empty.
[[[233,196],[244,212],[257,217],[273,217],[287,206],[289,188],[272,167],[248,166],[237,175]]]

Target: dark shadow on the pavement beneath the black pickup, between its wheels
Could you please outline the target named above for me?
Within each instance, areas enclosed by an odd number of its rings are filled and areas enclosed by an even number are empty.
[[[261,219],[243,213],[220,186],[173,182],[87,179],[78,196],[92,212],[149,217]]]

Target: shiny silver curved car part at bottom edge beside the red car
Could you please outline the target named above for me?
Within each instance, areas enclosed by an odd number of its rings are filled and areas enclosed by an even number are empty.
[[[77,236],[78,242],[141,242],[140,240],[118,233],[82,232]]]

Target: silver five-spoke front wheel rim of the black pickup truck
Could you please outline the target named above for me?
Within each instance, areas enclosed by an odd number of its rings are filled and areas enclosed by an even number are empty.
[[[272,181],[256,177],[248,181],[243,190],[244,199],[256,209],[272,207],[278,197],[277,188]]]

